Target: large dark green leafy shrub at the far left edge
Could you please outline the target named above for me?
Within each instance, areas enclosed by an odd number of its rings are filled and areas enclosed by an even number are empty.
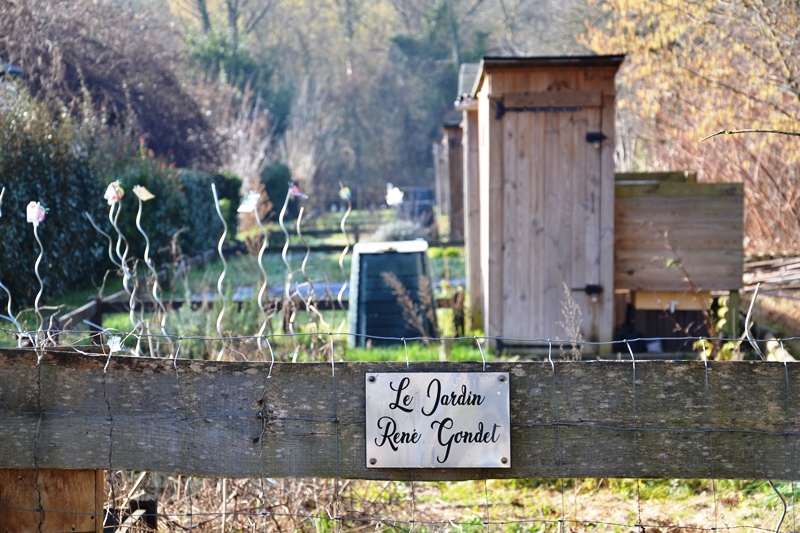
[[[34,102],[21,87],[0,85],[0,280],[15,304],[31,303],[39,290],[34,263],[39,247],[25,219],[28,202],[48,209],[38,228],[44,246],[40,273],[45,298],[86,284],[103,270],[104,243],[83,212],[102,216],[102,193],[87,146],[91,123],[64,113],[53,121],[50,111]],[[2,297],[3,295],[0,295]]]

